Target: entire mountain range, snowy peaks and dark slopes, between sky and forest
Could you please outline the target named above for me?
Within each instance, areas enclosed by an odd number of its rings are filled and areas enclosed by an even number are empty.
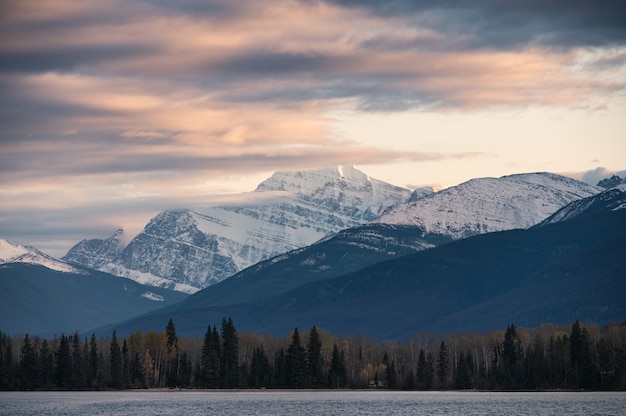
[[[244,202],[164,211],[127,246],[118,230],[78,243],[67,261],[0,239],[0,329],[123,335],[172,318],[202,336],[232,316],[240,330],[399,339],[610,322],[626,314],[616,296],[626,186],[602,191],[551,173],[437,193],[346,166],[276,173]]]

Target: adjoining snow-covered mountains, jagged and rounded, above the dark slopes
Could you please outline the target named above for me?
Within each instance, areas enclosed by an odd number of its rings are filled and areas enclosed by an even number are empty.
[[[411,193],[351,166],[277,172],[245,195],[245,203],[164,211],[126,247],[118,231],[105,240],[81,241],[63,260],[194,293],[260,261],[370,222],[418,227],[417,235],[441,242],[527,228],[601,190],[549,173]],[[413,251],[433,245],[428,238],[418,240],[411,243]]]

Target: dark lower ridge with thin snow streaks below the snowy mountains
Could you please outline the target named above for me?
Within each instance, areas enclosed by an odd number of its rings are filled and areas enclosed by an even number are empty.
[[[415,226],[367,224],[250,266],[193,294],[187,305],[258,302],[304,284],[435,247],[450,238]]]

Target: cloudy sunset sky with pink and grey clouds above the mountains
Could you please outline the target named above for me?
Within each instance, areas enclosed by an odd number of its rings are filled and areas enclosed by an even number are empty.
[[[626,2],[4,0],[0,237],[62,256],[275,171],[626,177]]]

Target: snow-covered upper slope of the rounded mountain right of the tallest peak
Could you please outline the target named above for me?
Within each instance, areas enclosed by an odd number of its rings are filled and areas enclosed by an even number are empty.
[[[552,173],[472,179],[393,207],[374,222],[417,225],[459,239],[531,227],[568,203],[601,190]]]

